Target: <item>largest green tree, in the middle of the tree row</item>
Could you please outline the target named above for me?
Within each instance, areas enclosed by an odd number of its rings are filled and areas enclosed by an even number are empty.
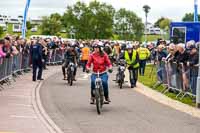
[[[62,22],[69,34],[80,39],[106,39],[112,37],[114,8],[111,5],[92,1],[87,6],[77,2],[68,6]]]

